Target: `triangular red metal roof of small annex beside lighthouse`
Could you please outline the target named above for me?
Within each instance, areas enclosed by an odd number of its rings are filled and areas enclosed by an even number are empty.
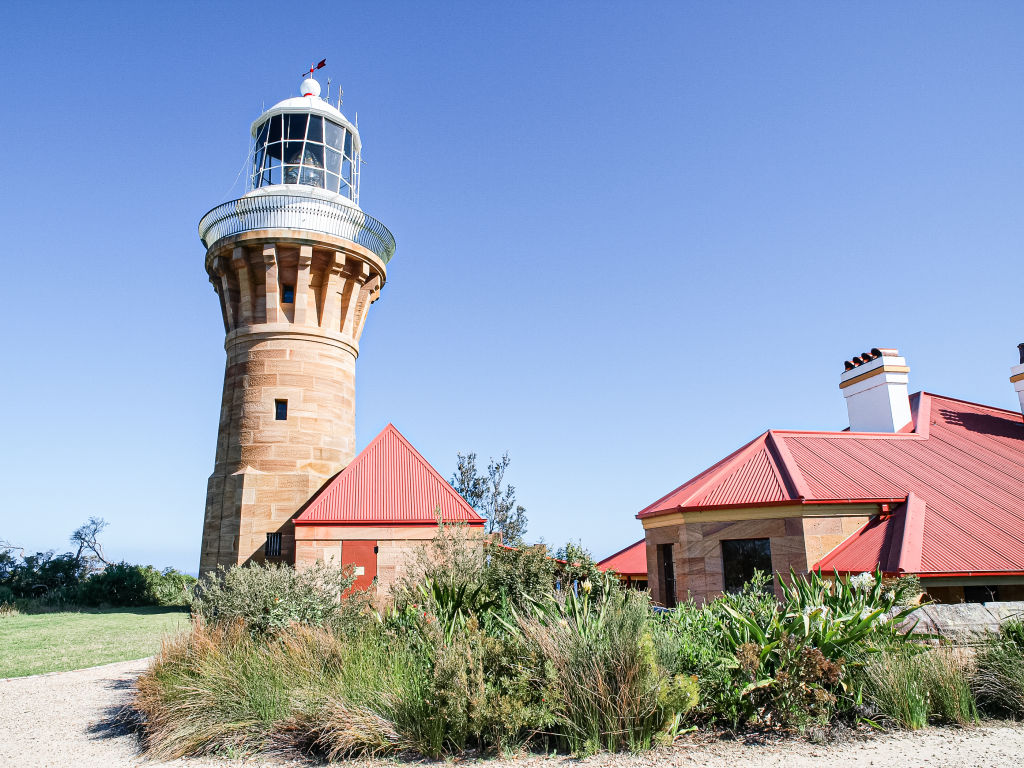
[[[409,440],[388,424],[300,510],[297,525],[483,525]]]

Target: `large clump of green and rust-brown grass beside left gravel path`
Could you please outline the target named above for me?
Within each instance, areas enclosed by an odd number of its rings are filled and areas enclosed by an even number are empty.
[[[157,759],[426,754],[423,669],[409,648],[377,637],[295,625],[268,638],[240,622],[197,620],[138,679],[134,706]]]

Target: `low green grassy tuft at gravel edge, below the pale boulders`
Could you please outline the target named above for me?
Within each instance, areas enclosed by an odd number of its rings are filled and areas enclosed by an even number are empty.
[[[930,722],[969,725],[978,720],[964,651],[892,645],[863,659],[864,701],[887,722],[924,728]]]

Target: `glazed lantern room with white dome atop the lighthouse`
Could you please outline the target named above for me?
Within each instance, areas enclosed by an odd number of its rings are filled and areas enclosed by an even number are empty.
[[[359,133],[319,92],[319,84],[307,78],[301,96],[271,106],[253,123],[251,187],[311,186],[358,205]]]

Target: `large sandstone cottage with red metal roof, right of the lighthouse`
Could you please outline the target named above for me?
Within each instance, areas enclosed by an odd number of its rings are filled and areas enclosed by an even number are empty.
[[[884,378],[859,370],[845,380]],[[899,399],[877,394],[868,410]],[[847,397],[854,424],[864,403]],[[890,432],[765,432],[643,509],[659,599],[729,588],[744,557],[783,573],[912,573],[937,599],[1024,597],[1021,414],[927,392],[905,402]]]

